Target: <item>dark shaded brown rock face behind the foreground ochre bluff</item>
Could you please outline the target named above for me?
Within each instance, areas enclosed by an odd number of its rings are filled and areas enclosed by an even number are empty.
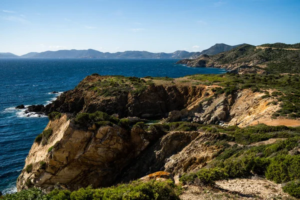
[[[105,97],[86,86],[90,82],[101,81],[101,79],[102,76],[87,76],[75,89],[62,93],[55,101],[46,105],[46,112],[91,113],[98,110],[108,114],[118,114],[119,117],[164,117],[172,110],[186,107],[194,99],[199,98],[203,90],[202,86],[154,84],[147,85],[147,88],[138,94],[123,91]]]

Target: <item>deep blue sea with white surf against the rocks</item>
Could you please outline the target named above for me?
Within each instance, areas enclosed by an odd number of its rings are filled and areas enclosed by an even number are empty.
[[[0,191],[16,191],[15,182],[34,138],[47,117],[14,109],[19,104],[47,104],[92,73],[144,77],[180,77],[224,73],[217,68],[191,68],[177,59],[0,59]]]

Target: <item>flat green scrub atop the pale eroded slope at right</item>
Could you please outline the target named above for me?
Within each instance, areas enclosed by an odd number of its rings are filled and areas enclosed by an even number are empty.
[[[299,75],[279,75],[279,74],[196,74],[188,76],[189,79],[199,80],[202,84],[219,85],[213,88],[215,95],[225,93],[232,94],[239,89],[249,88],[252,91],[266,91],[261,98],[272,98],[273,104],[279,103],[279,116],[291,118],[300,117],[300,87]],[[268,89],[275,89],[271,95]],[[275,116],[275,115],[274,115]]]

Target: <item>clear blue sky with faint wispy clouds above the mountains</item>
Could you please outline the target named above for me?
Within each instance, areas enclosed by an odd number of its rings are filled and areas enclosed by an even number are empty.
[[[0,52],[300,42],[300,0],[1,0]]]

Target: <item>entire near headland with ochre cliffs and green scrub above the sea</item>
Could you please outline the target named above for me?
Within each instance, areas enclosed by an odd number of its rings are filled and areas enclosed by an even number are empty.
[[[180,191],[182,199],[194,190],[211,188],[225,197],[238,184],[250,182],[238,178],[257,175],[262,179],[255,183],[273,185],[277,192],[237,190],[238,195],[292,199],[284,192],[296,195],[297,182],[289,181],[300,178],[298,170],[291,170],[300,161],[296,85],[298,75],[226,73],[174,79],[92,74],[52,103],[39,106],[37,111],[49,113],[50,121],[29,151],[17,188],[49,189],[57,182],[58,188],[71,191],[107,187],[163,170],[186,185],[186,191]],[[295,127],[284,126],[290,121]],[[283,171],[284,176],[279,175]],[[289,183],[281,188],[285,182]],[[144,191],[138,190],[143,183],[133,183],[137,188],[130,184],[106,188],[107,195],[121,188]],[[167,188],[165,195],[179,198],[176,187]],[[102,189],[73,192],[100,195],[106,191]],[[59,192],[76,199],[69,190]],[[195,198],[205,195],[198,192]]]

